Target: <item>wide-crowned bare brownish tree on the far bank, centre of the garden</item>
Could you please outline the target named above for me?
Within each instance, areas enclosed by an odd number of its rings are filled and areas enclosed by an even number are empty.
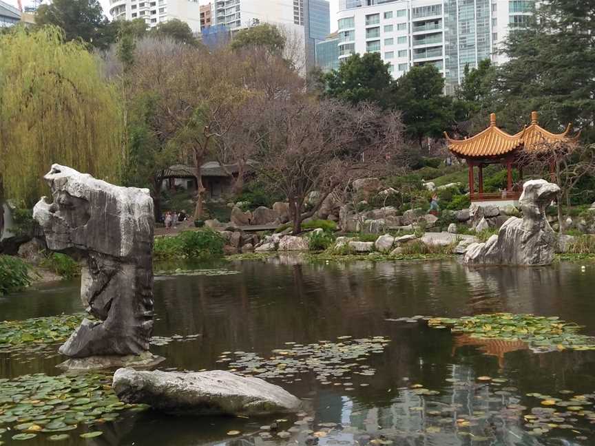
[[[402,145],[398,114],[362,104],[307,97],[260,102],[256,169],[269,187],[289,200],[293,233],[329,194],[357,178],[388,171]],[[317,201],[306,211],[306,198]]]

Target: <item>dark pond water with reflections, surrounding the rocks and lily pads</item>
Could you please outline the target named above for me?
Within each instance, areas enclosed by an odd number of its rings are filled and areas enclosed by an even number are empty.
[[[189,418],[149,410],[79,427],[58,443],[45,434],[12,440],[16,432],[7,431],[0,444],[595,444],[595,352],[538,354],[499,341],[482,344],[429,328],[423,320],[390,320],[534,313],[576,322],[585,326],[582,333],[595,335],[593,264],[473,270],[450,260],[317,264],[280,257],[208,267],[238,273],[156,277],[154,334],[165,345],[152,351],[167,358],[162,370],[226,369],[247,354],[268,358],[272,350],[286,354],[321,341],[345,350],[365,338],[377,347],[346,359],[357,362],[351,369],[336,363],[330,376],[298,370],[267,378],[304,399],[304,414],[297,417]],[[81,310],[76,282],[0,298],[0,320]],[[230,353],[221,359],[222,352]],[[58,375],[61,360],[54,354],[0,353],[0,379]],[[549,407],[545,396],[572,399],[578,407]],[[1,423],[0,432],[7,427]],[[273,438],[260,436],[260,427],[271,423],[278,426]],[[79,438],[88,430],[103,435]],[[289,436],[279,438],[278,431]]]

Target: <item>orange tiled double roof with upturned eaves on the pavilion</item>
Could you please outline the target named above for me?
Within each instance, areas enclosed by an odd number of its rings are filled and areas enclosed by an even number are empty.
[[[571,126],[561,134],[552,134],[543,129],[538,123],[538,114],[533,111],[531,114],[531,125],[519,133],[510,135],[497,127],[496,114],[490,114],[490,127],[464,140],[452,139],[444,133],[448,149],[462,158],[486,158],[499,157],[516,149],[539,150],[540,145],[554,142],[574,142],[580,134],[568,136]]]

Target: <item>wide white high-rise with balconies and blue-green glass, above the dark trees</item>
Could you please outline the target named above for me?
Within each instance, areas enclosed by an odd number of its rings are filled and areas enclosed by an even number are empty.
[[[522,26],[534,0],[340,0],[339,61],[379,52],[397,78],[431,63],[452,92],[466,65],[504,60],[497,54],[509,27]]]

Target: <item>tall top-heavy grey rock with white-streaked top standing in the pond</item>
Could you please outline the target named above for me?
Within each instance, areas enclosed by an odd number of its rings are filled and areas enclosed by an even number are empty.
[[[147,189],[117,187],[70,167],[43,177],[54,198],[33,209],[48,248],[85,259],[84,319],[60,348],[68,357],[138,355],[153,328],[153,200]]]

